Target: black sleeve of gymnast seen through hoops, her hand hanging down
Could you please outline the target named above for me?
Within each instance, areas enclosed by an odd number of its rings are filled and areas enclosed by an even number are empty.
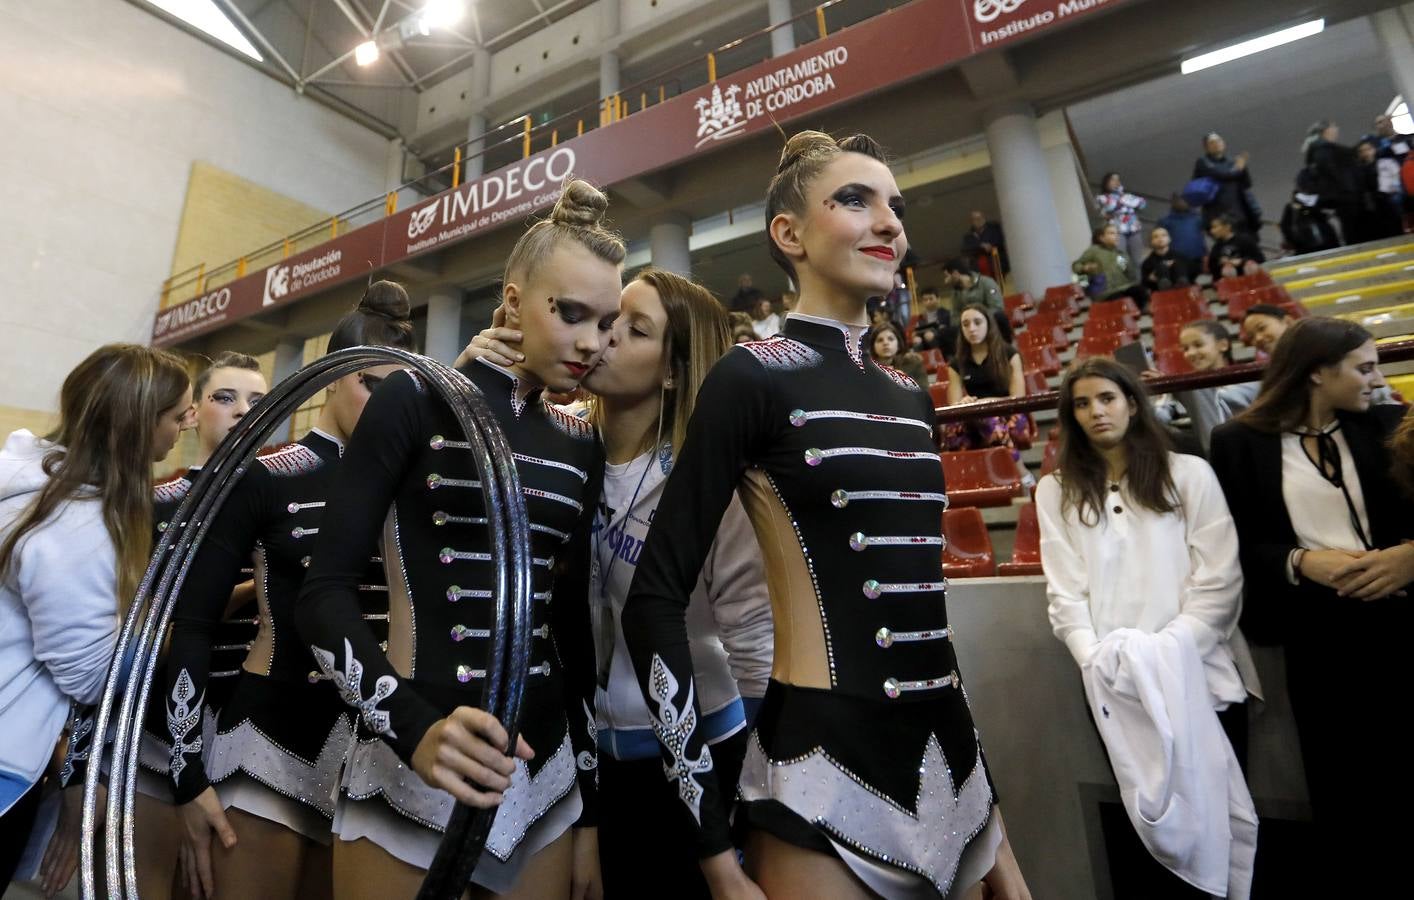
[[[211,522],[173,610],[163,695],[171,749],[171,788],[178,804],[209,787],[202,766],[201,719],[211,679],[211,644],[226,614],[230,586],[250,562],[273,490],[264,467],[252,461]]]

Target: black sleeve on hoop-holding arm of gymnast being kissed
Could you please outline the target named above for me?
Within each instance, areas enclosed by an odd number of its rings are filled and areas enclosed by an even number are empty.
[[[296,627],[363,725],[404,761],[441,715],[389,664],[363,621],[358,584],[423,433],[427,388],[395,372],[369,398],[328,494]],[[392,552],[392,549],[389,549]]]

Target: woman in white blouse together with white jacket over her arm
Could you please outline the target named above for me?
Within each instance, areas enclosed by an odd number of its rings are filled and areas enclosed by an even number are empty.
[[[1216,805],[1241,812],[1244,828],[1234,822],[1232,833],[1206,839],[1226,850],[1229,839],[1244,835],[1250,872],[1257,818],[1237,768],[1247,756],[1246,699],[1260,696],[1261,688],[1237,630],[1243,579],[1223,491],[1208,463],[1169,450],[1144,385],[1113,359],[1085,359],[1066,374],[1059,416],[1059,464],[1036,485],[1035,501],[1048,613],[1080,669],[1121,795],[1159,764],[1158,756],[1140,758],[1135,746],[1172,758],[1182,777],[1161,788],[1174,792],[1165,808]],[[1161,733],[1145,716],[1107,702],[1120,693],[1113,683],[1121,659],[1123,665],[1175,664],[1143,679],[1135,674],[1135,682],[1172,688],[1172,679],[1186,674],[1206,685],[1206,696],[1174,691],[1191,702],[1167,705],[1168,730]],[[1222,756],[1213,758],[1217,746]],[[1159,771],[1157,777],[1171,774]],[[1135,821],[1134,801],[1124,805]],[[1176,815],[1182,819],[1184,811]],[[1161,836],[1175,825],[1164,818],[1167,825],[1161,819],[1145,831]],[[1234,853],[1237,846],[1233,841]],[[1143,879],[1144,893],[1133,896],[1208,896],[1182,893],[1176,875],[1158,870],[1138,841],[1118,848],[1111,859]],[[1192,865],[1191,859],[1167,865],[1176,873],[1185,863]]]

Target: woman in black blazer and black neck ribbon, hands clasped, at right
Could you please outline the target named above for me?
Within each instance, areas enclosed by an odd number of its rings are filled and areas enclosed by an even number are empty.
[[[1277,342],[1261,393],[1213,432],[1247,586],[1243,630],[1285,648],[1287,691],[1319,846],[1322,896],[1379,896],[1400,877],[1414,807],[1404,683],[1414,606],[1414,517],[1390,477],[1404,409],[1369,331],[1302,318]],[[1391,693],[1391,691],[1394,693]]]

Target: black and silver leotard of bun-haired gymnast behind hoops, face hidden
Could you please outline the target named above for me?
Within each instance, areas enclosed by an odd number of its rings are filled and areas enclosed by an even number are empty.
[[[338,691],[296,634],[294,604],[342,451],[339,440],[315,429],[297,443],[262,451],[246,468],[187,572],[163,692],[177,802],[216,784],[225,805],[320,841],[328,841],[354,727]],[[365,556],[358,586],[361,616],[375,633],[386,631],[387,620],[380,562]],[[212,668],[218,654],[232,652],[218,637],[229,584],[252,563],[259,631],[249,652],[240,652],[240,674],[218,710],[216,733],[202,734],[198,710]]]

